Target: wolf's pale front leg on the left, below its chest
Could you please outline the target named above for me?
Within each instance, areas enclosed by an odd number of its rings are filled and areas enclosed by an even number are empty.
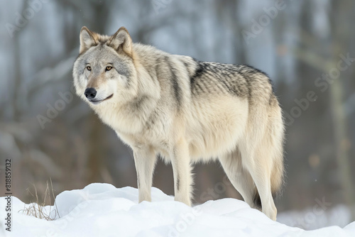
[[[151,187],[156,160],[154,150],[148,147],[135,148],[133,154],[137,171],[139,202],[151,202]]]

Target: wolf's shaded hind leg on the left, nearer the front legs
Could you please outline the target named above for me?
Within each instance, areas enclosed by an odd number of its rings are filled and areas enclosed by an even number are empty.
[[[239,149],[236,148],[234,152],[228,155],[222,155],[219,161],[236,191],[241,194],[244,201],[249,204],[249,206],[254,207],[253,194],[256,187],[249,171],[242,167]]]

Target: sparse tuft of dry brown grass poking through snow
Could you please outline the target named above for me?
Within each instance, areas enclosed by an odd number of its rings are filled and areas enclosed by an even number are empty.
[[[35,184],[33,184],[33,189],[35,191],[34,194],[31,192],[29,188],[27,189],[27,191],[35,198],[35,202],[31,204],[25,204],[23,209],[21,209],[19,212],[27,216],[34,216],[38,219],[45,219],[47,221],[53,221],[55,219],[60,218],[57,204],[55,204],[55,196],[54,196],[52,180],[50,179],[50,185],[48,184],[47,181],[47,187],[45,188],[45,193],[43,194],[44,196],[43,202],[40,202],[40,199],[38,198],[38,193],[37,193],[37,189],[35,188]],[[49,204],[51,205],[52,200],[53,200],[53,207],[50,206],[49,210],[45,209],[46,202],[49,202]]]

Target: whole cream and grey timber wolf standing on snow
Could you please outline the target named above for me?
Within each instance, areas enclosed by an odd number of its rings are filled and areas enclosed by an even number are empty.
[[[175,200],[191,204],[191,165],[218,159],[245,202],[275,220],[283,185],[283,116],[268,76],[133,43],[122,27],[83,27],[76,93],[134,154],[139,202],[151,201],[157,155],[173,165]]]

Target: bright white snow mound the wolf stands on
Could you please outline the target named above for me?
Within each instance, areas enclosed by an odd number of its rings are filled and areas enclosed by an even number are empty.
[[[21,214],[29,204],[12,197],[11,232],[4,230],[6,199],[0,199],[0,236],[355,236],[355,222],[304,231],[271,221],[237,199],[219,199],[197,206],[175,202],[152,188],[153,202],[138,204],[138,189],[89,184],[65,191],[55,206],[45,206],[54,221]],[[3,234],[4,233],[4,234]]]

